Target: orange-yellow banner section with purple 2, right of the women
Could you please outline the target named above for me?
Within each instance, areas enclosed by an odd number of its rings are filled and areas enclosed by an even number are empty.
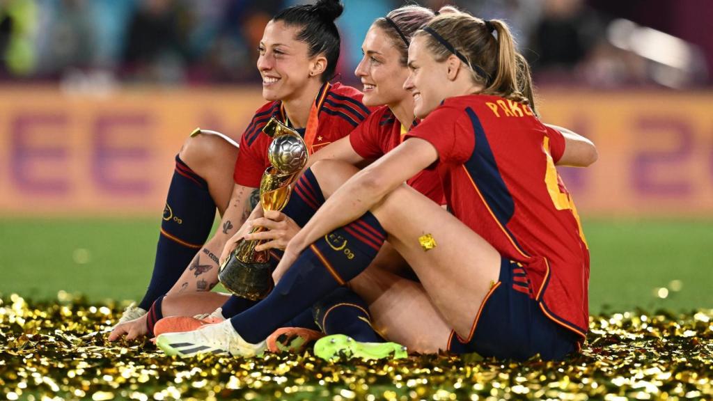
[[[713,215],[713,93],[544,91],[540,106],[599,151],[560,168],[582,215]]]

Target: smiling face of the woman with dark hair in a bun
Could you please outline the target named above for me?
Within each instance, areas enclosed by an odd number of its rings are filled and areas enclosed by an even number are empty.
[[[262,76],[262,97],[267,101],[297,98],[307,87],[313,58],[306,43],[294,39],[297,26],[270,21],[260,41],[257,69]]]

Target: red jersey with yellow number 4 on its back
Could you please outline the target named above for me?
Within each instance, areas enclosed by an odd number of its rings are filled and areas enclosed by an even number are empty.
[[[407,137],[438,151],[448,206],[458,220],[526,273],[515,290],[584,337],[589,250],[572,197],[555,169],[562,134],[528,106],[499,96],[448,98]]]

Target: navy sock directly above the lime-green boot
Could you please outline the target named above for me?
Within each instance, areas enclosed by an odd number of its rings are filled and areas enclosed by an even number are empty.
[[[312,308],[324,334],[344,334],[361,342],[383,342],[371,327],[369,305],[347,287],[339,287]]]

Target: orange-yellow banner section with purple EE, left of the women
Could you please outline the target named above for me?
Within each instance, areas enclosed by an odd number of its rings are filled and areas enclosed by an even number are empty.
[[[1,215],[161,213],[194,128],[240,141],[256,88],[146,88],[111,96],[0,89]]]

